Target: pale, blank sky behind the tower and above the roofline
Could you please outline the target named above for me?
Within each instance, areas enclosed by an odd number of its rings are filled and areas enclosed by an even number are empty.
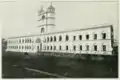
[[[2,37],[39,34],[38,10],[50,2],[41,0],[12,0],[0,2]],[[56,30],[72,30],[112,24],[118,39],[118,5],[115,1],[53,1]]]

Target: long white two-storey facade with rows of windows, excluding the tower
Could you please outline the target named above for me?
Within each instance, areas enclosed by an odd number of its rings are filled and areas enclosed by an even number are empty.
[[[105,39],[103,39],[102,37],[103,33],[105,33],[106,35]],[[97,39],[94,39],[94,34],[97,34]],[[62,37],[61,41],[59,41],[60,35]],[[66,41],[66,35],[68,35],[69,37],[68,41]],[[80,40],[79,35],[82,36],[82,40]],[[86,35],[89,35],[88,40],[86,39]],[[54,41],[54,36],[56,37],[56,41]],[[74,36],[76,37],[75,40],[74,40]],[[50,40],[51,37],[53,38],[53,40],[47,41],[47,38],[49,38]],[[25,42],[25,39],[26,40],[28,39],[29,41]],[[24,42],[20,43],[20,40],[24,40]],[[12,41],[13,43],[9,43],[9,41]],[[64,52],[70,54],[78,53],[78,54],[98,54],[98,55],[112,54],[111,27],[91,28],[91,29],[83,29],[83,30],[81,29],[74,31],[42,34],[37,36],[10,38],[8,39],[7,42],[8,42],[7,51],[29,52],[29,53],[36,53],[37,51],[42,51],[42,52]],[[82,46],[82,50],[80,50],[80,45]],[[95,45],[97,46],[97,50],[94,49]],[[103,51],[103,45],[106,46],[105,51]],[[9,48],[10,46],[18,46],[18,48]],[[60,50],[60,46],[61,46],[61,50]],[[68,46],[68,50],[66,50],[66,46]],[[74,49],[74,46],[76,46],[76,49]],[[89,50],[87,50],[87,46],[89,46],[88,48]],[[49,47],[49,49],[47,47]],[[54,47],[56,47],[56,49],[54,49]]]

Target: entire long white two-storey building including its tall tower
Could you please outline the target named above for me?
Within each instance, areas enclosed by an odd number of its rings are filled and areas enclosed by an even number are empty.
[[[46,11],[41,7],[38,16],[40,34],[8,38],[6,51],[29,54],[56,52],[112,55],[112,25],[52,32],[55,28],[55,8],[53,5],[50,4]]]

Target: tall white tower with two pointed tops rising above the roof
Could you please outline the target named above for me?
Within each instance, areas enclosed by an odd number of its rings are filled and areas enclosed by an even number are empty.
[[[41,7],[39,11],[39,25],[40,34],[50,33],[55,27],[55,8],[52,6],[52,3],[47,8],[46,11]]]

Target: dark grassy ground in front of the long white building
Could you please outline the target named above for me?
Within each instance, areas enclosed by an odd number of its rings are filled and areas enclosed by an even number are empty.
[[[45,78],[53,77],[31,73],[22,69],[30,67],[50,73],[57,73],[71,78],[116,78],[118,75],[117,61],[90,61],[74,58],[53,56],[28,57],[20,53],[5,53],[2,58],[2,74],[7,78]],[[27,59],[26,59],[27,57]],[[19,65],[13,68],[11,65]]]

